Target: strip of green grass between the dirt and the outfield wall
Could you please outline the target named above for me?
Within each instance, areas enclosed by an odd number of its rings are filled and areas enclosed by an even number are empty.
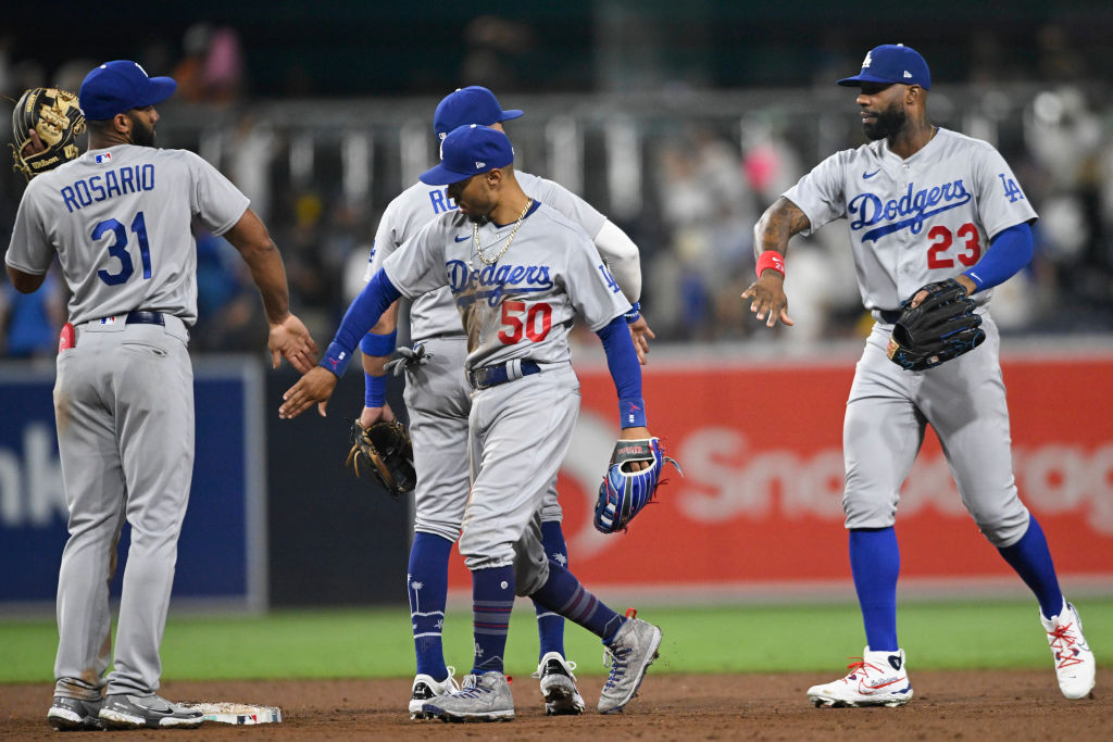
[[[1113,656],[1113,598],[1081,610],[1099,663]],[[856,605],[643,607],[664,631],[654,672],[836,671],[865,643]],[[266,616],[176,616],[162,642],[166,680],[405,677],[413,646],[405,609],[275,612]],[[457,674],[471,662],[470,611],[450,611],[444,642]],[[908,603],[899,631],[917,670],[1043,667],[1046,642],[1031,601]],[[0,621],[0,682],[50,682],[58,633],[52,621]],[[565,632],[577,673],[603,674],[599,641]],[[536,667],[532,610],[519,602],[506,650],[508,672]]]

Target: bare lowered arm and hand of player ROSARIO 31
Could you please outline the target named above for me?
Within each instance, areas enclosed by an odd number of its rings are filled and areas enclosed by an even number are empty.
[[[289,311],[289,289],[286,285],[286,267],[282,255],[270,239],[267,228],[254,211],[247,209],[239,221],[225,233],[233,247],[252,271],[252,280],[263,297],[263,307],[270,326],[267,347],[274,367],[283,356],[294,368],[305,373],[313,368],[317,359],[317,344],[309,330]]]

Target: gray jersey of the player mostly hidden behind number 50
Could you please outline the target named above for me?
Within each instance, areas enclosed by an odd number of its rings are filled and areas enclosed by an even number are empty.
[[[552,180],[520,171],[515,171],[514,177],[518,178],[522,190],[583,227],[592,239],[607,221],[607,217],[590,204]],[[364,280],[371,280],[371,277],[383,267],[383,261],[417,234],[430,219],[455,208],[456,205],[449,198],[447,188],[444,186],[426,186],[417,182],[402,191],[383,211]],[[422,340],[460,332],[460,316],[456,314],[447,287],[414,299],[410,308],[411,339]]]

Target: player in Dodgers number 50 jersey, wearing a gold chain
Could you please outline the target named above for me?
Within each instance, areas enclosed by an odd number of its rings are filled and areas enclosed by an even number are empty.
[[[599,711],[619,711],[657,655],[661,631],[615,614],[548,557],[541,509],[579,412],[568,346],[574,316],[603,340],[621,437],[650,437],[623,316],[630,304],[588,234],[522,190],[503,132],[463,126],[441,149],[441,165],[421,180],[449,185],[457,209],[426,224],[384,261],[348,308],[322,365],[286,393],[279,413],[293,417],[314,402],[323,405],[356,344],[400,296],[447,287],[467,337],[464,366],[473,390],[472,486],[460,552],[472,572],[475,655],[462,689],[425,701],[422,711],[454,721],[513,719],[502,671],[515,591],[602,637],[613,660]]]

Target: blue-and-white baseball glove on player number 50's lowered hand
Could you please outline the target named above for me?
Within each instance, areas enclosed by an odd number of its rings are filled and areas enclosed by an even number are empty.
[[[647,462],[649,468],[627,472],[629,462]],[[661,484],[661,468],[669,462],[680,472],[680,465],[664,456],[658,438],[641,441],[619,441],[614,444],[610,466],[599,485],[599,501],[595,503],[595,530],[602,533],[626,531],[633,516],[641,512],[657,493]],[[680,472],[683,476],[683,472]]]

